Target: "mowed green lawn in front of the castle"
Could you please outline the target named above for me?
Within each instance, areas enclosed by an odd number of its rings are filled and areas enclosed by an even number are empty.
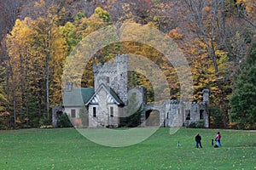
[[[95,144],[74,128],[0,131],[0,169],[256,169],[256,133],[219,131],[221,148],[211,145],[217,129],[181,128],[171,135],[162,127],[119,148]],[[203,148],[195,148],[196,133]]]

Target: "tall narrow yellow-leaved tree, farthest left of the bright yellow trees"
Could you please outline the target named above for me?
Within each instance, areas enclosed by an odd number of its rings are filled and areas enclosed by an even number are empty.
[[[16,20],[11,35],[7,36],[9,50],[9,72],[13,100],[14,115],[21,119],[27,118],[27,92],[28,92],[28,55],[29,55],[29,27],[30,19]],[[7,87],[9,88],[9,87]],[[17,113],[17,114],[16,114]],[[16,120],[16,117],[15,117]]]

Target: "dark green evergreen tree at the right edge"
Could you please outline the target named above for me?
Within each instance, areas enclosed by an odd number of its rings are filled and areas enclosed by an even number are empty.
[[[256,43],[254,42],[247,58],[237,71],[233,94],[230,97],[232,122],[239,128],[256,128]]]

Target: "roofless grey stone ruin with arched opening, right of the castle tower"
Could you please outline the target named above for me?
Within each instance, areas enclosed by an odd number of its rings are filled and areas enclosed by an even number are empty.
[[[209,127],[208,98],[209,91],[204,90],[203,102],[183,102],[177,99],[166,100],[162,103],[145,105],[145,112],[157,110],[160,112],[161,127],[189,127],[192,122],[202,121],[204,127]],[[142,122],[146,121],[145,112]],[[145,126],[145,124],[143,124]]]

